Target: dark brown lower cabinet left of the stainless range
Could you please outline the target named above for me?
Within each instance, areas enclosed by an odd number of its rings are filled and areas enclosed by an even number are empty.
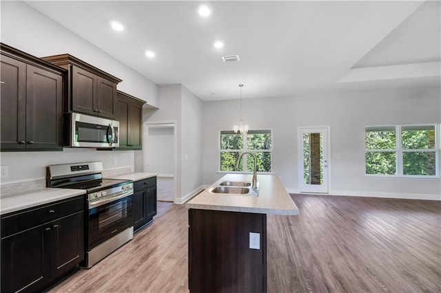
[[[2,230],[10,232],[29,226],[23,219],[59,210],[72,210],[81,199],[37,208],[3,218]],[[81,206],[83,208],[83,206]],[[53,212],[51,212],[51,210]],[[41,217],[40,217],[41,218]],[[11,224],[13,225],[11,227]],[[8,227],[9,226],[9,227]],[[1,292],[36,292],[48,288],[79,268],[84,259],[84,212],[70,213],[1,238]]]

